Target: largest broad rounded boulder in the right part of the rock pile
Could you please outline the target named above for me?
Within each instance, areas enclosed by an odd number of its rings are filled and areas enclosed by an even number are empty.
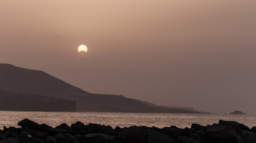
[[[205,134],[213,140],[233,140],[237,132],[229,125],[215,124],[213,126],[206,127]]]

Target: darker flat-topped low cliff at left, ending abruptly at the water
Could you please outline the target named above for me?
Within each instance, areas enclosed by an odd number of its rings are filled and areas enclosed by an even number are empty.
[[[13,93],[0,89],[0,110],[76,112],[76,102],[37,94]]]

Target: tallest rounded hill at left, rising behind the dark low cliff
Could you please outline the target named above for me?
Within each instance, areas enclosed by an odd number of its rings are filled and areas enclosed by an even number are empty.
[[[0,88],[24,94],[87,94],[43,71],[25,69],[11,64],[0,64]]]

